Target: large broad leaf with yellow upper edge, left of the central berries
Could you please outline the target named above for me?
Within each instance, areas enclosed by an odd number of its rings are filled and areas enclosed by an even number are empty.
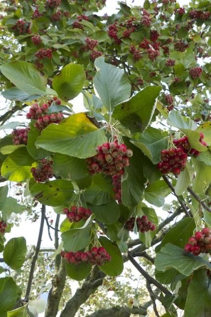
[[[42,131],[36,145],[51,152],[85,159],[94,156],[96,146],[106,141],[104,131],[81,112],[59,124],[50,124]]]

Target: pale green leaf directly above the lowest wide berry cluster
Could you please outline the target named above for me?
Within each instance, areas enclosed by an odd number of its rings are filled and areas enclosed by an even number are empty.
[[[66,251],[77,252],[83,250],[90,242],[91,226],[76,228],[65,231],[61,234]]]

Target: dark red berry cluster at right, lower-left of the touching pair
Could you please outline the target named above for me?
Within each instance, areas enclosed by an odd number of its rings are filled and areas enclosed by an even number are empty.
[[[170,148],[169,150],[161,151],[161,161],[158,163],[158,168],[162,174],[172,172],[178,175],[185,167],[187,154],[181,148]]]

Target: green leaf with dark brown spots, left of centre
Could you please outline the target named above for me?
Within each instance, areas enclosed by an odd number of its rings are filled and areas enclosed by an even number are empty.
[[[43,183],[36,183],[31,188],[31,193],[37,200],[47,206],[68,205],[73,195],[74,188],[71,181],[56,179]]]

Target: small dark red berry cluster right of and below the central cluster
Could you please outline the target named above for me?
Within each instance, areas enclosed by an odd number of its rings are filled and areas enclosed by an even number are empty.
[[[125,223],[125,228],[128,231],[132,231],[135,225],[135,217],[131,217]],[[155,231],[156,225],[148,220],[147,216],[144,214],[141,218],[136,218],[137,231],[145,233],[149,230]]]

